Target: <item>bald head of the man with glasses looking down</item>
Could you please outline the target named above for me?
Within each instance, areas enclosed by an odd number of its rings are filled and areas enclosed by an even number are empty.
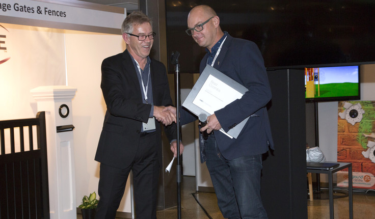
[[[201,24],[203,30],[195,29]],[[192,37],[199,46],[206,47],[211,51],[220,38],[224,35],[220,29],[220,19],[216,12],[207,5],[194,7],[187,15],[187,27],[193,29]]]

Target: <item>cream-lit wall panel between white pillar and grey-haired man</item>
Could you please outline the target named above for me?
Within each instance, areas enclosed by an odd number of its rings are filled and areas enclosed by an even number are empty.
[[[94,160],[106,110],[100,89],[103,59],[125,49],[121,35],[65,31],[67,84],[77,88],[72,100],[76,202],[98,189],[99,163]],[[118,211],[130,212],[129,181]]]

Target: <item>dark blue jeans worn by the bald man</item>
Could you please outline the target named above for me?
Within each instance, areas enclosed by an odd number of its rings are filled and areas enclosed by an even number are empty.
[[[225,218],[267,218],[260,197],[262,156],[225,159],[214,135],[205,142],[206,165]]]

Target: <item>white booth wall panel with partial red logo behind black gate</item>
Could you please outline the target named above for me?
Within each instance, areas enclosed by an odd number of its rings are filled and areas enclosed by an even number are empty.
[[[63,30],[0,23],[0,120],[35,117],[37,104],[30,90],[39,86],[65,85]],[[6,30],[7,31],[6,31]]]

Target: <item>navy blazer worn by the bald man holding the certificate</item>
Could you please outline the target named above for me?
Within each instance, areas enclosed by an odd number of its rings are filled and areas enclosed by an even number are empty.
[[[201,61],[200,73],[206,67],[207,58],[208,54]],[[251,116],[237,139],[230,139],[221,131],[215,131],[216,142],[222,155],[226,159],[234,159],[265,153],[269,146],[273,149],[266,110],[266,104],[271,100],[271,88],[257,45],[228,34],[213,67],[249,89],[241,99],[215,112],[225,131]],[[186,111],[181,111],[180,115],[181,124],[192,120]]]

